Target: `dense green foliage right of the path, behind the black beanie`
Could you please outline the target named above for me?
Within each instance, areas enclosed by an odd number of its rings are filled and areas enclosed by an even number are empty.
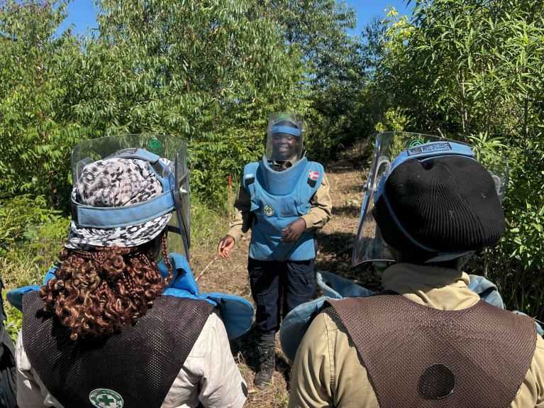
[[[387,100],[379,126],[400,121],[509,159],[508,228],[474,268],[535,316],[544,313],[543,11],[522,0],[417,0],[411,18],[391,9],[374,84]]]

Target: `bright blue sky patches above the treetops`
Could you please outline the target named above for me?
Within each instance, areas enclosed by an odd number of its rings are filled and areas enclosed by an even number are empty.
[[[394,6],[399,12],[406,13],[409,7],[406,0],[346,0],[357,11],[357,28],[354,33],[360,33],[365,24],[374,16],[384,16],[384,9]],[[85,33],[89,27],[96,28],[96,8],[93,0],[72,0],[68,5],[68,17],[60,31],[63,31],[71,23],[74,24],[74,32]]]

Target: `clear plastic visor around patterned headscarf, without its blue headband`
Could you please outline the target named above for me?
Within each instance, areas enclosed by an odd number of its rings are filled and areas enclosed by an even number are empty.
[[[72,182],[79,180],[83,168],[91,162],[107,158],[119,150],[140,148],[170,161],[170,167],[154,168],[162,177],[170,177],[173,185],[176,216],[172,216],[167,229],[170,231],[167,247],[170,252],[181,253],[189,259],[190,206],[189,170],[187,169],[187,143],[169,135],[149,133],[106,136],[79,143],[72,149]],[[172,233],[174,232],[174,233]],[[159,258],[162,253],[159,253]]]

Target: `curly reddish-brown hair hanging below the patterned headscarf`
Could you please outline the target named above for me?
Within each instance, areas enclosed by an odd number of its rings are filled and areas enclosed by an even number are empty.
[[[172,279],[166,237],[163,233],[135,248],[62,248],[56,278],[40,288],[44,309],[54,312],[70,329],[72,340],[110,336],[132,324]],[[166,278],[155,263],[157,240],[168,268]]]

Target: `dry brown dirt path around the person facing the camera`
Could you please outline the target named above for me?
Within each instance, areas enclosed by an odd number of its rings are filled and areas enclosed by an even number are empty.
[[[326,169],[328,181],[331,183],[333,216],[323,230],[318,231],[316,271],[334,272],[360,285],[377,290],[380,281],[372,270],[361,265],[351,268],[351,253],[364,195],[362,184],[365,172],[360,165],[361,152],[361,146],[345,151],[339,155],[339,160],[330,163]],[[227,224],[228,220],[225,219],[225,226],[217,231],[216,243],[226,233]],[[247,270],[249,242],[250,235],[247,234],[237,243],[230,258],[213,262],[199,280],[201,290],[228,292],[252,301]],[[213,260],[213,256],[216,255],[214,248],[216,243],[210,244],[206,255],[201,251],[193,253],[191,263],[195,275],[204,270]],[[315,296],[321,296],[321,291],[316,289]],[[248,382],[250,395],[245,407],[287,407],[291,368],[279,347],[278,340],[276,340],[276,371],[273,384],[264,391],[253,387],[253,377],[258,368],[256,342],[257,338],[253,330],[231,342],[234,358]]]

